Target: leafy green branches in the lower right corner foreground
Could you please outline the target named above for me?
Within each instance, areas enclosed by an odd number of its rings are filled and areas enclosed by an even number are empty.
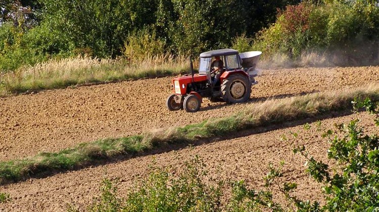
[[[377,103],[369,99],[353,101],[355,108],[365,107],[375,114],[378,123]],[[318,182],[323,183],[326,204],[321,208],[328,211],[375,211],[379,208],[379,137],[368,135],[359,126],[359,120],[336,125],[336,131],[326,130],[330,148],[328,158],[337,162],[337,167],[329,168],[309,156],[304,147],[295,146],[295,153],[307,159],[307,171]]]

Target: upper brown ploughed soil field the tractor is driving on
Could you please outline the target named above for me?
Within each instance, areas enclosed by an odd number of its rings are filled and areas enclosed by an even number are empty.
[[[197,113],[167,110],[170,78],[0,98],[0,161],[152,128],[198,123],[233,114],[262,99],[364,86],[378,79],[377,66],[267,70],[257,78],[259,84],[248,103],[204,100]]]

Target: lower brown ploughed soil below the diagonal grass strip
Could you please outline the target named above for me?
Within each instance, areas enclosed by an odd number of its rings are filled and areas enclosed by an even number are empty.
[[[326,119],[322,123],[325,128],[333,128],[336,122],[348,122],[354,118],[362,119],[363,125],[368,126],[370,131],[374,130],[373,117],[366,113]],[[207,180],[245,179],[249,187],[255,189],[262,189],[262,177],[268,172],[269,163],[277,165],[285,161],[284,178],[298,183],[296,195],[302,199],[321,200],[320,184],[304,172],[305,159],[294,155],[290,144],[280,141],[282,135],[290,137],[290,131],[299,132],[299,144],[304,144],[316,160],[327,161],[328,144],[321,138],[321,132],[316,132],[315,124],[311,125],[308,132],[299,125],[10,184],[3,186],[1,192],[9,193],[13,200],[1,206],[6,211],[63,211],[67,204],[85,209],[92,196],[100,193],[100,182],[104,178],[119,178],[119,193],[125,196],[135,185],[136,179],[147,175],[148,165],[153,160],[158,166],[173,166],[180,170],[183,163],[195,155],[200,156],[207,165]],[[280,198],[279,202],[282,202]]]

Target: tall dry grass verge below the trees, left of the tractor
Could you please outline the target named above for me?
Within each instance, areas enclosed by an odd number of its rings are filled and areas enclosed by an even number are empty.
[[[163,77],[188,72],[189,60],[171,54],[148,55],[140,61],[88,56],[51,59],[3,73],[0,94],[65,88],[87,83]]]

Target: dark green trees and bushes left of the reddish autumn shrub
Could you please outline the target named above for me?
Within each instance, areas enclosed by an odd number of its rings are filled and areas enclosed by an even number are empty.
[[[0,70],[87,54],[139,59],[230,47],[275,22],[300,0],[5,0],[0,3]]]

